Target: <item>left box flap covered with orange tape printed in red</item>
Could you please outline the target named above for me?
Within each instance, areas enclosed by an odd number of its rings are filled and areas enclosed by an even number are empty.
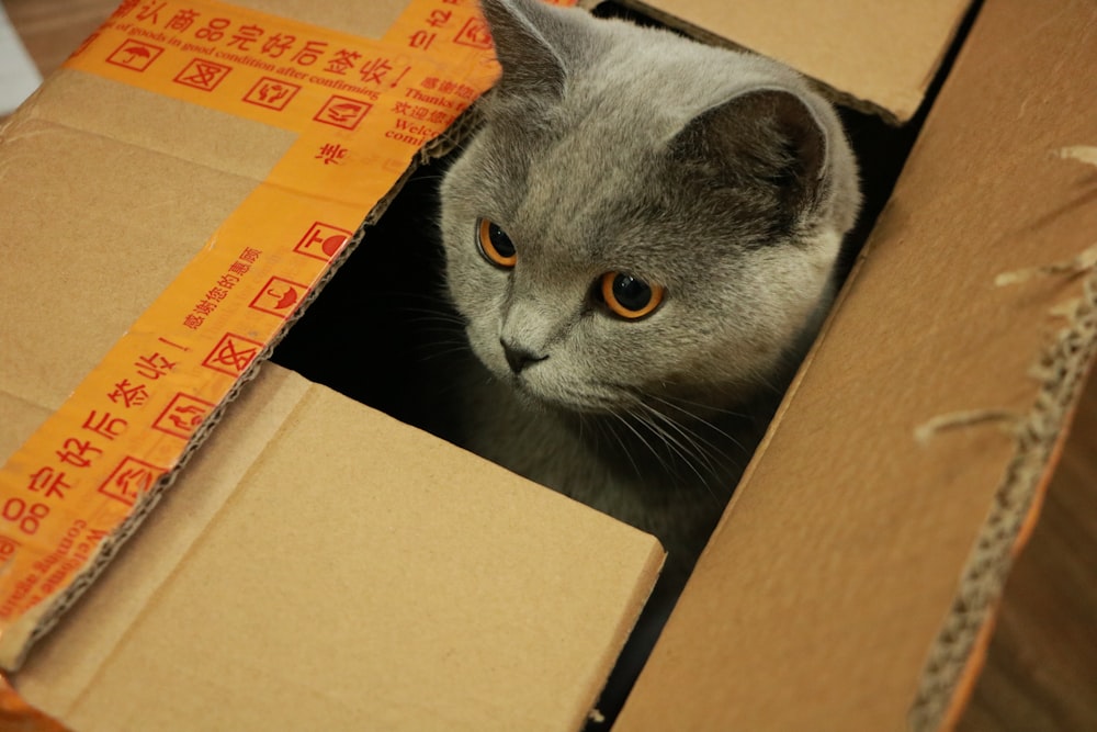
[[[0,128],[11,212],[0,339],[12,345],[0,393],[20,426],[0,446],[5,668],[65,606],[77,573],[102,566],[101,538],[124,536],[150,507],[144,496],[171,478],[362,218],[380,215],[417,148],[494,72],[478,35],[428,52],[423,27],[471,27],[471,5],[382,3],[349,24],[354,36],[199,4],[121,5]],[[414,74],[396,54],[409,43],[423,52]],[[371,54],[388,52],[403,86],[381,80],[389,59]],[[362,71],[363,58],[380,66]],[[443,79],[431,99],[444,111],[385,103]],[[393,133],[410,120],[415,136]],[[61,548],[70,530],[91,553]]]

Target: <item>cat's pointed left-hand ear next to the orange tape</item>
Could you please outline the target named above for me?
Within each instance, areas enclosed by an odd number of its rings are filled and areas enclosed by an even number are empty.
[[[562,46],[574,35],[570,19],[541,0],[480,0],[480,7],[502,66],[496,93],[558,99],[565,77]]]

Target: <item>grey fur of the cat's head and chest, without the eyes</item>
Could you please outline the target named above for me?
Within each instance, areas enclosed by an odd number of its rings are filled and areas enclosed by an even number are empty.
[[[685,575],[832,299],[860,195],[830,105],[773,61],[484,0],[504,67],[442,187],[476,365],[468,448],[652,531]],[[518,263],[475,245],[486,217]],[[607,271],[666,288],[625,322]],[[543,358],[513,373],[500,339]]]

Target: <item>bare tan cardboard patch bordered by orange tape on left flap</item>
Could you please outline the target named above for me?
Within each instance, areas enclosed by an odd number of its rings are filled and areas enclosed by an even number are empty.
[[[72,114],[68,100],[86,93],[103,104]],[[168,122],[180,117],[217,129],[235,155],[214,162],[216,148],[196,136],[178,135],[170,149],[171,131],[184,127]],[[0,351],[0,390],[58,408],[256,188],[289,136],[77,71],[50,77],[2,136],[7,165],[34,165],[0,178],[9,315],[0,341],[20,345]],[[201,184],[181,194],[181,180]]]

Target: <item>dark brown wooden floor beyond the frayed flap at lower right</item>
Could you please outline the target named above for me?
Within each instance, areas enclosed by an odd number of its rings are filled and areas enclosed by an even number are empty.
[[[963,732],[1087,730],[1097,720],[1097,379],[1078,405],[986,661],[955,710]]]

